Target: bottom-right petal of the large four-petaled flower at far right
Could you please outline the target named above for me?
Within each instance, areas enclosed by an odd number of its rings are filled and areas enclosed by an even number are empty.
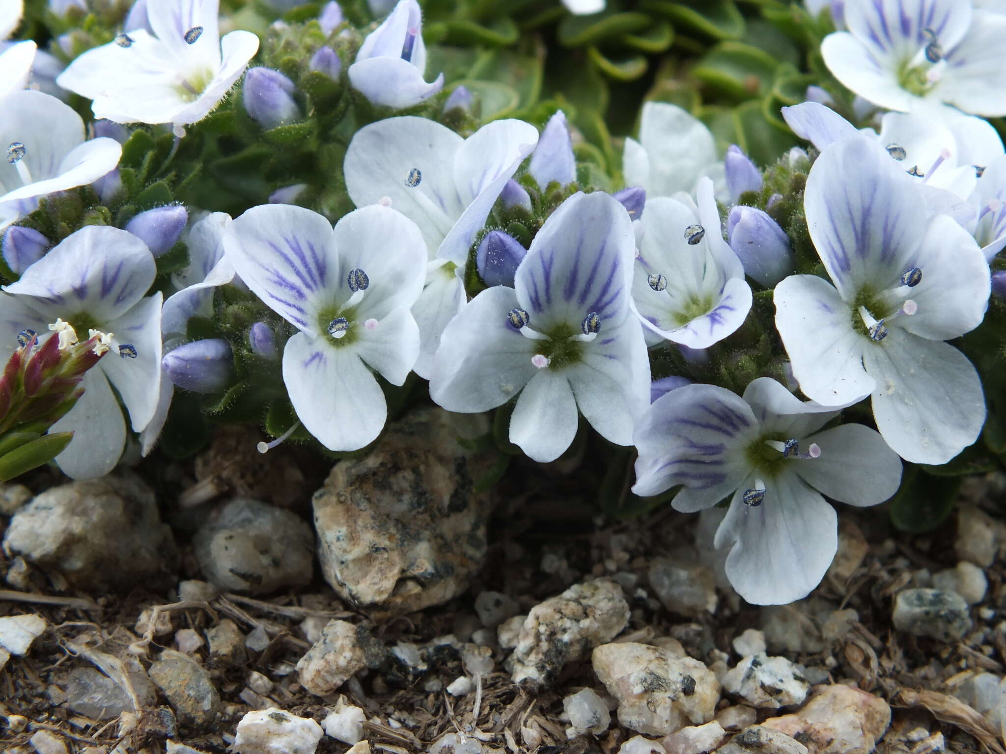
[[[892,329],[866,349],[863,363],[876,380],[877,429],[902,458],[946,463],[978,439],[985,423],[982,383],[956,348]]]

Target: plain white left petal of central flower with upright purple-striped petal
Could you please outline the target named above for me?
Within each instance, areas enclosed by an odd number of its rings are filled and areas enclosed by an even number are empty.
[[[513,289],[494,286],[466,304],[441,337],[430,397],[449,411],[488,411],[510,400],[538,372],[535,342],[510,324]]]

